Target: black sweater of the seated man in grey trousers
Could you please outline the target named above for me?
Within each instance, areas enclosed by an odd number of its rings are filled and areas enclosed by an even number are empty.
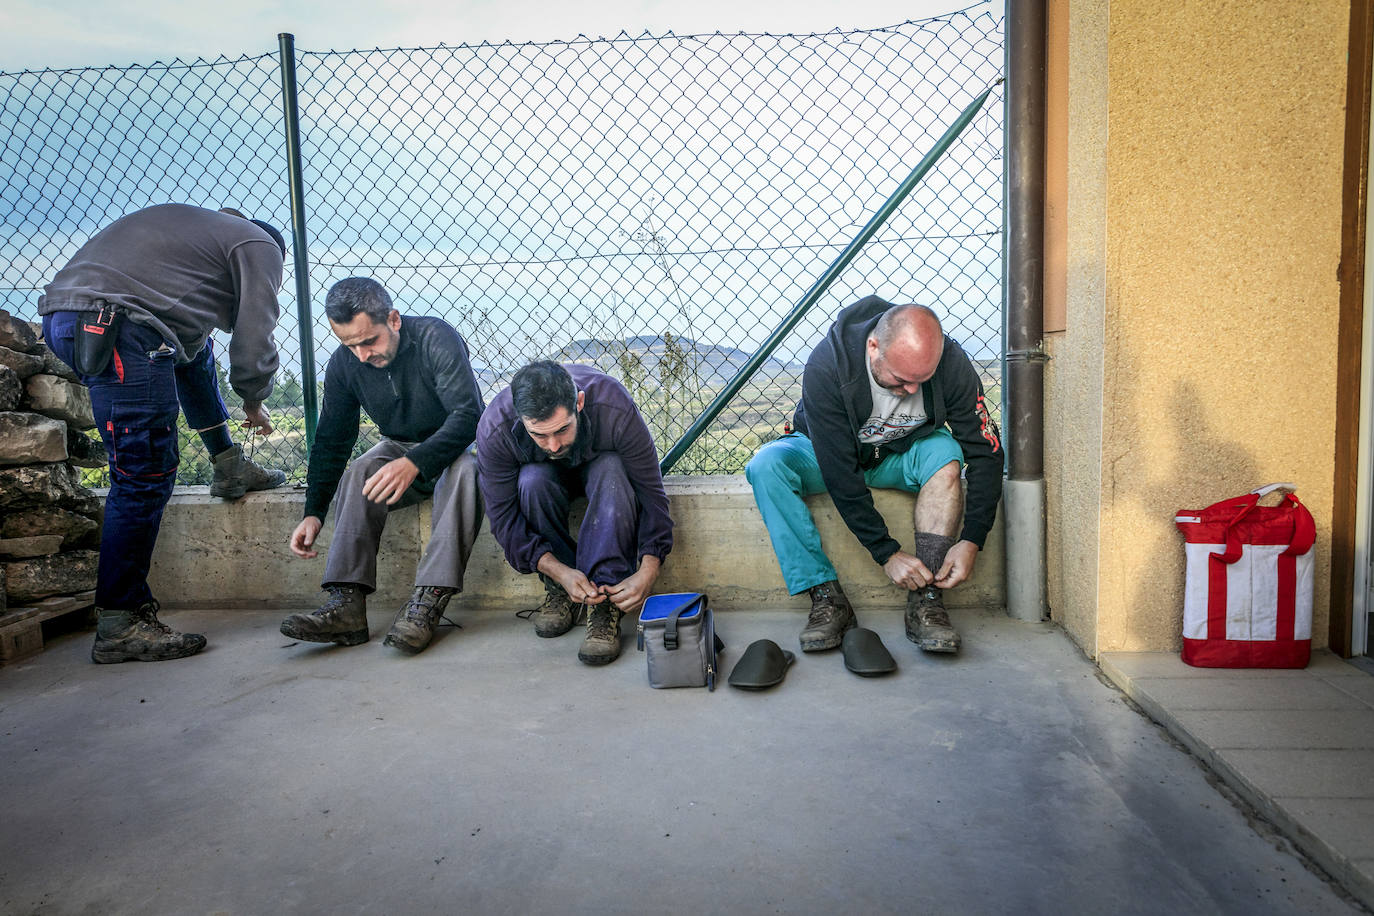
[[[389,439],[416,442],[405,457],[433,485],[477,437],[482,394],[467,342],[447,321],[401,316],[401,342],[386,368],[360,361],[346,346],[324,369],[324,405],[305,475],[305,515],[324,520],[357,442],[359,411]]]

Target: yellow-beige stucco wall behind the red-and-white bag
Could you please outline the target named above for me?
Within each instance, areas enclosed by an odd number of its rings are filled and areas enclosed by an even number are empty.
[[[1179,645],[1179,508],[1293,481],[1326,643],[1348,3],[1070,0],[1052,614]]]

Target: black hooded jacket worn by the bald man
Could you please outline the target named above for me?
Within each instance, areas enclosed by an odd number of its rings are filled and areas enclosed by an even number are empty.
[[[969,481],[959,540],[982,549],[1002,497],[1002,437],[988,416],[977,369],[949,335],[936,374],[921,386],[929,412],[926,422],[881,448],[859,442],[859,427],[872,413],[866,346],[878,319],[890,308],[890,302],[870,295],[840,312],[826,339],[807,360],[793,426],[811,438],[830,499],[878,563],[886,563],[901,544],[888,533],[882,514],[874,507],[864,470],[948,426],[963,449]]]

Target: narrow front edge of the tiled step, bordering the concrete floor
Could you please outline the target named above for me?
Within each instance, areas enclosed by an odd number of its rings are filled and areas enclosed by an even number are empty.
[[[1374,875],[1362,871],[1348,856],[1333,849],[1326,840],[1293,817],[1282,803],[1237,773],[1227,762],[1224,751],[1217,751],[1198,740],[1168,709],[1150,696],[1149,691],[1136,678],[1132,678],[1113,663],[1112,652],[1101,652],[1098,655],[1098,667],[1112,684],[1140,707],[1140,711],[1162,726],[1194,757],[1206,764],[1231,791],[1243,798],[1246,803],[1272,823],[1289,842],[1303,850],[1305,856],[1337,880],[1352,897],[1370,909],[1374,909]]]

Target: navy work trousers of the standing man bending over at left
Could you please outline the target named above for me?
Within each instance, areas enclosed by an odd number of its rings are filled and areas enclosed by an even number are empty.
[[[43,317],[44,339],[67,365],[74,363],[82,314],[89,319],[92,313]],[[99,375],[77,375],[91,389],[92,413],[110,460],[95,603],[133,610],[153,597],[148,566],[176,483],[177,409],[196,430],[223,423],[229,412],[220,397],[209,339],[191,363],[176,365],[157,331],[125,320],[110,365]]]

